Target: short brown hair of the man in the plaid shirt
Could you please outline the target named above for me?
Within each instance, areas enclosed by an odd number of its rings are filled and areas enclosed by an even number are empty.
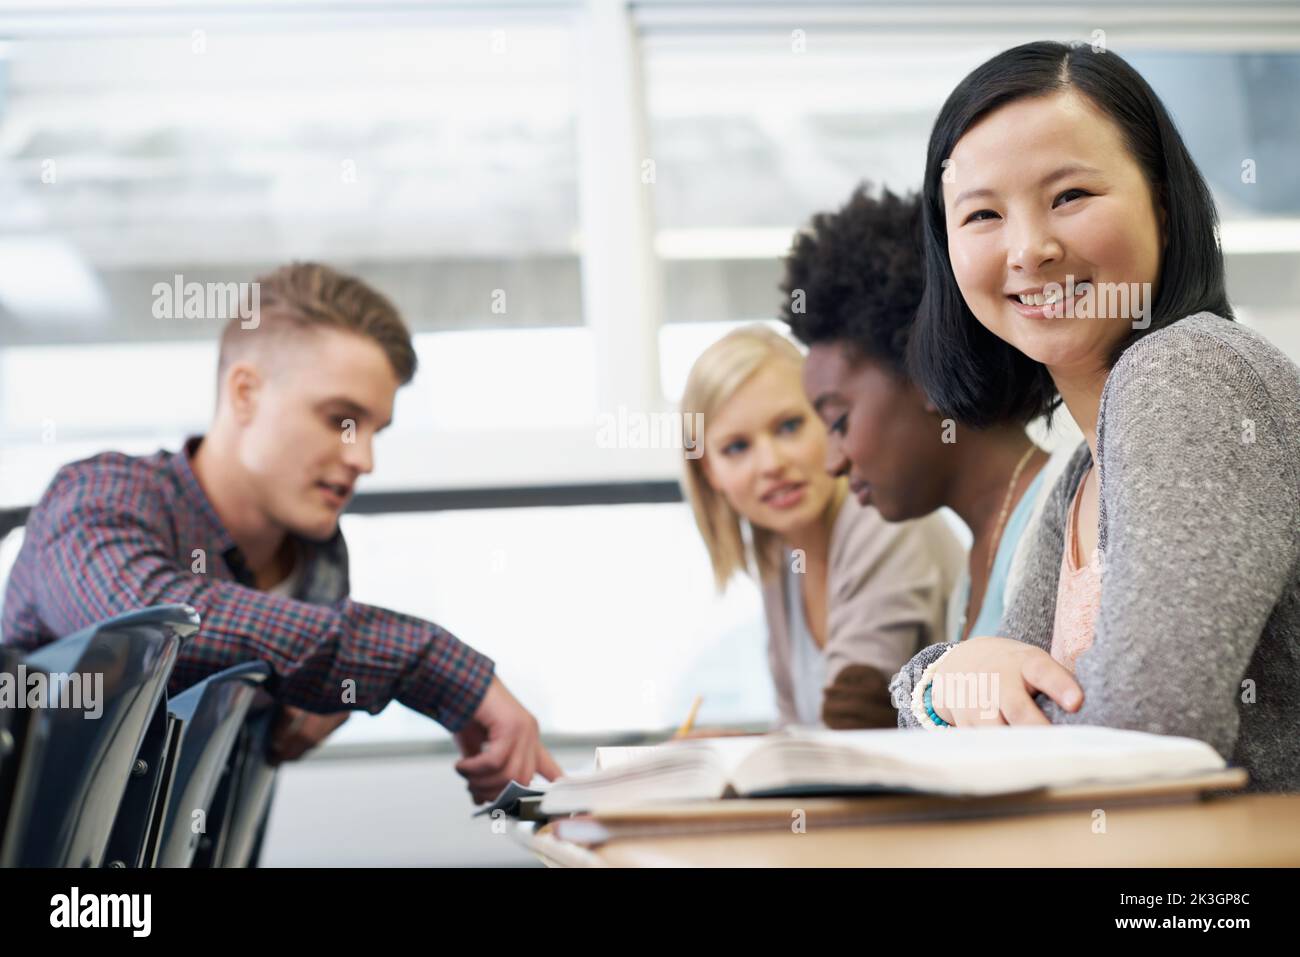
[[[273,273],[259,276],[259,319],[246,328],[235,316],[221,333],[217,376],[251,347],[295,332],[339,329],[363,335],[384,350],[398,381],[406,385],[415,376],[416,354],[411,332],[396,307],[382,293],[354,276],[346,276],[320,263],[290,263]]]

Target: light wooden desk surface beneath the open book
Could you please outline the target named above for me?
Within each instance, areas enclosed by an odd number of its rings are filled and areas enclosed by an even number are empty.
[[[872,800],[872,798],[867,798]],[[819,824],[816,801],[770,798],[807,830],[701,832],[559,841],[546,826],[521,840],[551,866],[611,867],[1239,867],[1300,865],[1300,794],[1234,794],[1113,807],[1095,833],[1088,809],[1014,817]],[[842,804],[842,802],[841,802]],[[1105,806],[1104,804],[1100,806]]]

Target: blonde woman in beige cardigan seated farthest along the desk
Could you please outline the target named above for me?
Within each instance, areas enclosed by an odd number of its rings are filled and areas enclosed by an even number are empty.
[[[757,575],[779,724],[894,727],[889,676],[942,640],[963,550],[939,515],[887,524],[827,473],[802,365],[760,325],[705,350],[681,403],[703,416],[686,497],[719,590]]]

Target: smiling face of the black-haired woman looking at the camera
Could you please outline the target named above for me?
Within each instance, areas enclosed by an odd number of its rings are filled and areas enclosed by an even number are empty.
[[[1119,127],[1071,91],[1022,99],[971,126],[950,159],[948,254],[975,319],[1053,376],[1108,369],[1154,296],[1162,246]],[[1052,283],[1080,282],[1091,291],[1044,303]]]

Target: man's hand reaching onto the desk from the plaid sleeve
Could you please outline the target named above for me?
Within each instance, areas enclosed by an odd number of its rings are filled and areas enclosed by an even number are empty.
[[[537,719],[494,677],[473,718],[456,732],[462,759],[456,771],[469,781],[474,804],[491,801],[511,780],[528,784],[533,774],[555,780],[564,770],[542,746]]]

